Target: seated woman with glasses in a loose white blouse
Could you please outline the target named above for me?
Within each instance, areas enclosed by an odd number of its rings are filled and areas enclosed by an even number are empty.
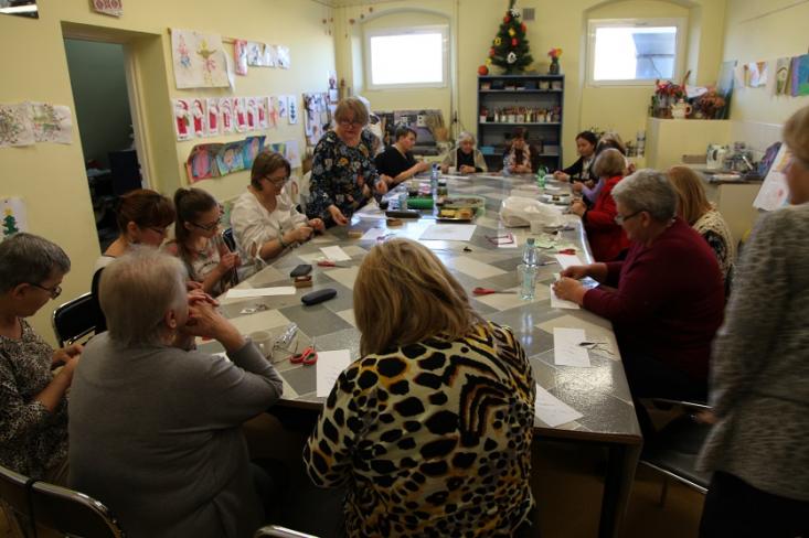
[[[253,161],[247,192],[233,204],[231,226],[247,272],[324,229],[321,218],[308,219],[295,208],[285,189],[290,172],[284,155],[263,151]]]

